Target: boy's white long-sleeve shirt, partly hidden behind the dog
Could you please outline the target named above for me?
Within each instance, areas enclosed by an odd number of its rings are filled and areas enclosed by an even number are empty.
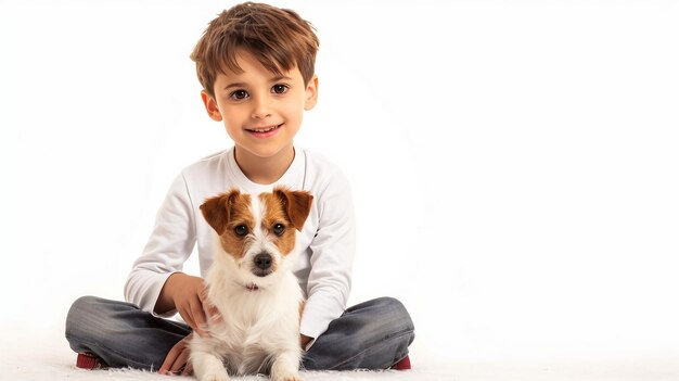
[[[257,194],[274,186],[307,190],[313,195],[311,212],[297,242],[303,247],[294,272],[307,303],[300,331],[318,338],[346,308],[351,288],[356,245],[354,204],[348,181],[337,166],[303,149],[276,182],[251,181],[235,163],[234,149],[205,157],[184,168],[171,185],[156,216],[155,227],[125,284],[125,299],[141,309],[154,306],[167,278],[182,270],[197,244],[201,276],[213,263],[212,227],[200,206],[208,198],[231,188]],[[176,314],[171,310],[163,317]]]

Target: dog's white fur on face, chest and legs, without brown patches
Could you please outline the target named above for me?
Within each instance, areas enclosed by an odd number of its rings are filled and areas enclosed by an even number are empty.
[[[239,200],[234,198],[231,202]],[[304,299],[291,271],[298,249],[295,244],[292,251],[282,253],[271,231],[262,225],[266,203],[258,196],[249,200],[247,211],[254,228],[248,231],[242,253],[229,253],[223,239],[215,232],[215,262],[205,282],[207,301],[218,309],[220,317],[210,319],[207,336],[194,334],[190,343],[190,360],[201,381],[267,372],[273,381],[300,380],[299,316]],[[243,205],[226,204],[225,207],[243,209]],[[266,276],[254,274],[257,271],[255,256],[260,253],[270,254],[273,264],[273,270]]]

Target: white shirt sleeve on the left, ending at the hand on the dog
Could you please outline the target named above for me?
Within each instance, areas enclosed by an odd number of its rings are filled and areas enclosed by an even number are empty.
[[[172,182],[156,215],[155,226],[141,256],[134,262],[125,283],[125,299],[154,316],[167,278],[181,271],[195,245],[195,221],[187,181],[182,175]]]

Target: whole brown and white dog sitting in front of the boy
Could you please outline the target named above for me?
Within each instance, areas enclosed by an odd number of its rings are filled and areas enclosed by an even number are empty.
[[[205,283],[219,312],[208,335],[193,335],[191,363],[201,381],[229,374],[270,373],[300,380],[302,290],[292,266],[313,196],[276,188],[258,195],[231,190],[208,199],[201,211],[215,230],[216,255]]]

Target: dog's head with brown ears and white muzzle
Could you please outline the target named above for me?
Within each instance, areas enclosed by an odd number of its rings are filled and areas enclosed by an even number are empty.
[[[309,192],[283,188],[254,196],[233,189],[207,199],[201,212],[233,259],[240,280],[257,288],[292,265],[286,259],[295,253],[295,231],[302,230],[312,200]]]

